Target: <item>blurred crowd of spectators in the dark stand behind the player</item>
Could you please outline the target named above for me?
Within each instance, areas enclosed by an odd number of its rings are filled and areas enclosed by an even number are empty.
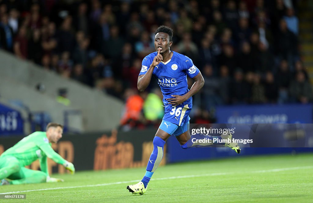
[[[313,101],[298,51],[296,2],[0,0],[0,47],[126,104],[136,97],[140,105],[121,123],[149,121],[144,102],[162,95],[153,81],[139,94],[137,78],[142,59],[155,51],[156,28],[167,25],[171,50],[190,57],[205,79],[194,118],[212,122],[218,105]]]

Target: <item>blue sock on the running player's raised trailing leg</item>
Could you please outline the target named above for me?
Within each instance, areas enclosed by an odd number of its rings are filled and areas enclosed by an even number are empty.
[[[201,142],[199,142],[199,140],[201,140]],[[191,147],[209,147],[215,144],[224,145],[225,143],[222,142],[221,136],[211,136],[197,133],[195,135],[192,135],[185,144],[181,145],[181,147],[183,149],[187,149]]]

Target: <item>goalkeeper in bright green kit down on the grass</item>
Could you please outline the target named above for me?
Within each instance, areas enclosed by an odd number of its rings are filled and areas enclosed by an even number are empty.
[[[62,133],[63,126],[61,124],[50,122],[46,132],[34,132],[3,152],[0,156],[0,185],[63,181],[50,178],[47,157],[62,164],[73,174],[75,172],[74,165],[63,159],[51,147],[51,143],[57,143],[62,138]],[[41,171],[25,168],[37,159],[39,159]]]

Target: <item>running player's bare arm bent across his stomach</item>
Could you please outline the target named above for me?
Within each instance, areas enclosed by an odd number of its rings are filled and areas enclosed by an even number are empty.
[[[192,87],[190,88],[190,91],[188,91],[185,95],[171,95],[173,98],[166,99],[168,101],[168,104],[171,104],[173,106],[182,104],[184,101],[189,99],[189,97],[196,94],[204,85],[204,79],[201,74],[201,72],[198,73],[198,75],[194,76],[192,78],[195,82],[193,83]]]

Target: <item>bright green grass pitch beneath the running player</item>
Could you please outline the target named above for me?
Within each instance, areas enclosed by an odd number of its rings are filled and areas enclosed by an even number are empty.
[[[127,181],[141,180],[144,173],[134,168],[52,174],[65,182],[0,186],[0,193],[26,194],[26,200],[0,202],[313,202],[313,154],[168,164],[156,170],[144,195],[132,195],[126,186],[138,181]]]

